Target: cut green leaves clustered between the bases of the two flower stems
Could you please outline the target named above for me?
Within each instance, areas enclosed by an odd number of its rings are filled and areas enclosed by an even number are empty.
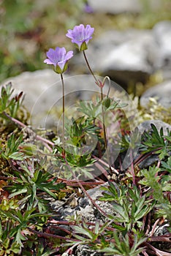
[[[85,118],[85,116],[81,116],[76,120],[72,118],[71,125],[70,121],[69,124],[66,122],[66,158],[64,160],[62,156],[60,157],[63,148],[61,147],[61,142],[56,140],[56,147],[53,150],[54,154],[58,154],[58,158],[55,160],[56,165],[61,166],[61,163],[66,165],[67,162],[70,167],[75,167],[76,169],[91,166],[95,162],[92,158],[94,145],[96,146],[97,143],[102,145],[103,143],[100,130],[101,128],[96,125],[96,118],[93,117]],[[85,170],[88,169],[83,168],[82,170],[85,173]],[[89,172],[87,174],[90,178]]]

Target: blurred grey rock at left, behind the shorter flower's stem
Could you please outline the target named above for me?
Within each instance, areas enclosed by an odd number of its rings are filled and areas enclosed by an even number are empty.
[[[102,79],[97,77],[98,79]],[[24,105],[31,113],[30,124],[32,127],[54,127],[57,118],[50,111],[61,108],[62,90],[60,75],[52,69],[42,69],[35,72],[23,72],[22,74],[8,78],[1,86],[12,82],[15,93],[23,91],[26,94]],[[68,111],[72,113],[77,99],[91,100],[92,95],[99,94],[99,88],[92,75],[65,75],[65,95]],[[104,94],[108,86],[104,86]]]

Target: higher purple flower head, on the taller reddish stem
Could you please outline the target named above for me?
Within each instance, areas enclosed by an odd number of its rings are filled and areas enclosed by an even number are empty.
[[[94,33],[94,28],[91,28],[90,25],[86,25],[86,28],[83,24],[75,26],[74,29],[69,29],[66,37],[72,39],[72,42],[77,45],[79,50],[86,50],[89,40],[92,38],[91,35]]]

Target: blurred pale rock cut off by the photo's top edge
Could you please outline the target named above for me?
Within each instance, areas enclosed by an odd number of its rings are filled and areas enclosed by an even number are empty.
[[[103,12],[110,14],[118,14],[122,12],[137,13],[142,12],[144,5],[140,0],[88,0],[88,4],[93,8],[94,12]],[[148,0],[149,8],[159,8],[160,0]]]

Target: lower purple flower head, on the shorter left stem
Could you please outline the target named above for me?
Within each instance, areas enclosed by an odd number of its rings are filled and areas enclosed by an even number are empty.
[[[73,56],[73,51],[69,50],[66,53],[66,49],[56,47],[56,50],[50,48],[46,53],[47,59],[45,59],[44,63],[54,65],[55,71],[59,74],[62,74],[67,69],[67,62]]]

